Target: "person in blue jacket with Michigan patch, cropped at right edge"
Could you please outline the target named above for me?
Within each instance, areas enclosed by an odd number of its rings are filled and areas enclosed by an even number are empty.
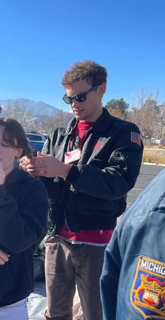
[[[165,319],[165,169],[124,213],[101,274],[104,320]]]

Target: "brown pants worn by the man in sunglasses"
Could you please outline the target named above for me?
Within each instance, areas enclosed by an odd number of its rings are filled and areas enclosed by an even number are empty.
[[[45,240],[45,280],[48,307],[45,319],[72,320],[78,286],[84,320],[102,320],[99,279],[105,246],[71,244],[60,236]]]

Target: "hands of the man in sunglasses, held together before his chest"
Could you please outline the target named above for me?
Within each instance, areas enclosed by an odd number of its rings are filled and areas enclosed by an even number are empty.
[[[23,156],[20,159],[20,166],[27,172],[35,175],[36,177],[54,178],[56,176],[66,179],[71,166],[55,159],[50,154],[42,155],[37,152],[37,156],[33,159],[27,159]]]

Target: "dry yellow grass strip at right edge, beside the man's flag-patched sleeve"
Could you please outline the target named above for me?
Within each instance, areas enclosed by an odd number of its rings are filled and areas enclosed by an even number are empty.
[[[165,164],[165,152],[157,151],[154,149],[144,149],[142,162],[149,162],[151,164]]]

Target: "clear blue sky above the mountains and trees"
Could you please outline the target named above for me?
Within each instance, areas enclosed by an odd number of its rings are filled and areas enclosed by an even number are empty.
[[[108,69],[103,103],[138,89],[165,102],[165,0],[0,0],[0,100],[29,98],[67,109],[67,67]]]

